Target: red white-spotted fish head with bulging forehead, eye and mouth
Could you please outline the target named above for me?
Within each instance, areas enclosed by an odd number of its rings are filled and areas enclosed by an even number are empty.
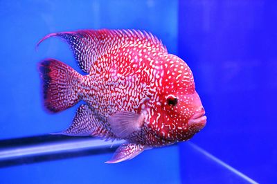
[[[175,55],[168,55],[163,61],[156,106],[160,116],[154,116],[157,136],[170,142],[188,140],[205,127],[205,110],[188,65]]]

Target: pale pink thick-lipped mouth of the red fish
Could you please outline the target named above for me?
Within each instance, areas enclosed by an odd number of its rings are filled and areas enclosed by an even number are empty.
[[[206,126],[207,117],[205,116],[205,111],[195,113],[188,120],[188,127],[194,129],[195,131],[200,131]]]

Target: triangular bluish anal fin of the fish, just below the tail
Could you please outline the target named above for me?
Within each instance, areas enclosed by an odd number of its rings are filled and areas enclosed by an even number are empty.
[[[57,134],[65,136],[98,136],[101,138],[109,138],[111,136],[105,129],[103,122],[87,104],[81,104],[70,127]]]

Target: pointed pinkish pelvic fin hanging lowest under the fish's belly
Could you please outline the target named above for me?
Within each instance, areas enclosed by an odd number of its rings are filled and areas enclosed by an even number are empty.
[[[125,160],[130,160],[141,154],[141,152],[145,149],[150,149],[150,147],[135,143],[123,143],[120,147],[118,147],[118,149],[116,149],[116,152],[111,160],[105,163],[120,163]]]

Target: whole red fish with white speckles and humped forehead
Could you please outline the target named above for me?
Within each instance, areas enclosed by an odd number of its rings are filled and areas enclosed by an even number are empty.
[[[161,39],[141,30],[51,33],[69,44],[84,74],[57,59],[39,62],[43,102],[57,113],[82,100],[71,125],[58,133],[125,140],[106,163],[190,140],[206,125],[193,73]]]

